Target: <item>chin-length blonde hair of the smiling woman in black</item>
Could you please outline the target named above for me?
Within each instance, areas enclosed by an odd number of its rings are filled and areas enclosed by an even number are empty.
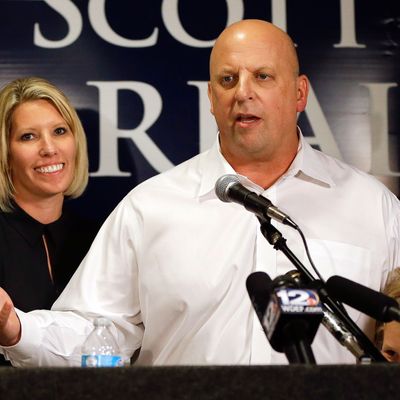
[[[38,77],[15,79],[0,91],[0,210],[10,211],[14,186],[10,173],[10,130],[15,108],[24,102],[47,100],[69,125],[76,145],[75,171],[64,195],[79,197],[89,179],[86,135],[74,107],[65,94],[49,81]]]

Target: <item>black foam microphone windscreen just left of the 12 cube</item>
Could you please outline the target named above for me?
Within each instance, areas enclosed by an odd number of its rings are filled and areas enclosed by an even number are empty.
[[[253,272],[246,279],[246,288],[253,307],[261,319],[272,294],[272,279],[262,271]]]

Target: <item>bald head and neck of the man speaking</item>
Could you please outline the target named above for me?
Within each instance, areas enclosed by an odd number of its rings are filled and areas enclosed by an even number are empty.
[[[297,153],[297,113],[307,94],[286,33],[247,20],[221,34],[210,57],[209,98],[221,152],[237,173],[267,188],[286,172]]]

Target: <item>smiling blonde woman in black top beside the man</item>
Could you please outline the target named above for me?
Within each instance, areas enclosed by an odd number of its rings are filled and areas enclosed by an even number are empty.
[[[0,91],[0,286],[23,311],[50,308],[85,256],[97,225],[64,207],[88,182],[86,138],[50,82]]]

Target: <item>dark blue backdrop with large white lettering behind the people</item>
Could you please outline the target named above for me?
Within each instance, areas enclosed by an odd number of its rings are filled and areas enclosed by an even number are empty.
[[[0,84],[42,76],[78,109],[91,178],[75,206],[88,215],[105,218],[215,140],[208,57],[243,18],[294,39],[312,85],[299,121],[308,140],[399,194],[398,0],[1,0],[0,15]]]

